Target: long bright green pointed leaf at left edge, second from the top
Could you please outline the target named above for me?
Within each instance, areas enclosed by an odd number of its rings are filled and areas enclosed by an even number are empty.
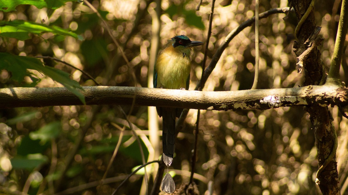
[[[82,36],[58,26],[47,26],[45,24],[25,20],[0,21],[0,36],[3,37],[13,37],[19,40],[26,40],[31,38],[29,33],[41,35],[46,32],[51,32],[55,35],[69,35],[80,40],[83,39]]]

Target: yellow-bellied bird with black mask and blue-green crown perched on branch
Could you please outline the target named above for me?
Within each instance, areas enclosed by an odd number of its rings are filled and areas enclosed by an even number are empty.
[[[200,41],[191,41],[185,35],[169,39],[158,53],[153,71],[153,87],[188,90],[192,47],[203,44]],[[183,109],[156,107],[156,110],[159,117],[163,118],[163,161],[170,166],[175,152],[175,120],[180,117]]]

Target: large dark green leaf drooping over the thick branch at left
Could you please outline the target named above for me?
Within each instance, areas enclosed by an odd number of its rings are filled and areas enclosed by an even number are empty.
[[[76,80],[71,80],[69,74],[49,66],[44,66],[41,60],[26,56],[14,56],[9,53],[0,52],[0,70],[6,69],[12,73],[12,79],[22,82],[24,76],[30,76],[27,69],[38,70],[42,74],[51,77],[62,84],[70,92],[79,97],[82,103],[86,104],[85,96],[78,90],[83,90]]]

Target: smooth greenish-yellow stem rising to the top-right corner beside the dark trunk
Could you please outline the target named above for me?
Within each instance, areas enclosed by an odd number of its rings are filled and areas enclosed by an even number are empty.
[[[343,54],[343,47],[348,27],[348,5],[347,0],[342,1],[340,21],[338,23],[337,36],[335,41],[335,48],[332,55],[328,78],[339,78],[340,66]]]

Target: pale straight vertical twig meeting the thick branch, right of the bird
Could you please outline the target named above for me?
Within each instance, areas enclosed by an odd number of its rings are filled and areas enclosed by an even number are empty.
[[[259,0],[255,1],[255,76],[252,90],[258,88],[259,80]]]

